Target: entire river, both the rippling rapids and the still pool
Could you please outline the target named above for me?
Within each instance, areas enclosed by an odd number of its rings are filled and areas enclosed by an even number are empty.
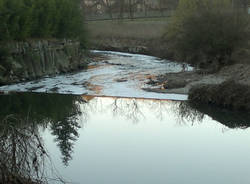
[[[23,176],[31,166],[30,172],[49,183],[250,183],[248,115],[197,108],[185,96],[141,90],[145,76],[164,73],[168,65],[168,71],[176,72],[178,64],[102,54],[109,60],[86,71],[1,88],[26,92],[0,96],[0,165],[11,171],[15,163]],[[143,57],[146,63],[156,61],[147,66]],[[124,69],[132,64],[138,69]],[[114,82],[121,77],[127,81]],[[59,79],[65,80],[59,85]],[[82,87],[86,81],[100,90]],[[48,86],[34,88],[42,83]],[[55,85],[57,94],[49,90]],[[38,93],[45,91],[49,93]]]

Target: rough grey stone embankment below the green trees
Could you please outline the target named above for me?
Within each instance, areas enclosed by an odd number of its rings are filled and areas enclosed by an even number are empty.
[[[10,42],[1,47],[7,52],[1,56],[0,85],[71,72],[89,61],[80,43],[69,40]]]

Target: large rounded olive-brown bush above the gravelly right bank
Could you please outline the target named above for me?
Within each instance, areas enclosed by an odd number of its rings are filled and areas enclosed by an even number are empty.
[[[249,40],[247,15],[228,0],[181,0],[165,38],[179,60],[222,66]]]

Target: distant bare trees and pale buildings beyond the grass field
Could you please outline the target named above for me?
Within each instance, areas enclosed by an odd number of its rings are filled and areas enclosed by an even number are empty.
[[[178,2],[179,0],[82,0],[89,20],[169,16]]]

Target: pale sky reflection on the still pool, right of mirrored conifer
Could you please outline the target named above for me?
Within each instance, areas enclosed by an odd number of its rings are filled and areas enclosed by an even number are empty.
[[[249,170],[249,130],[224,133],[227,124],[183,102],[82,99],[81,116],[87,124],[79,130],[70,166],[59,165],[74,182],[233,184],[238,178],[249,182],[244,177]]]

